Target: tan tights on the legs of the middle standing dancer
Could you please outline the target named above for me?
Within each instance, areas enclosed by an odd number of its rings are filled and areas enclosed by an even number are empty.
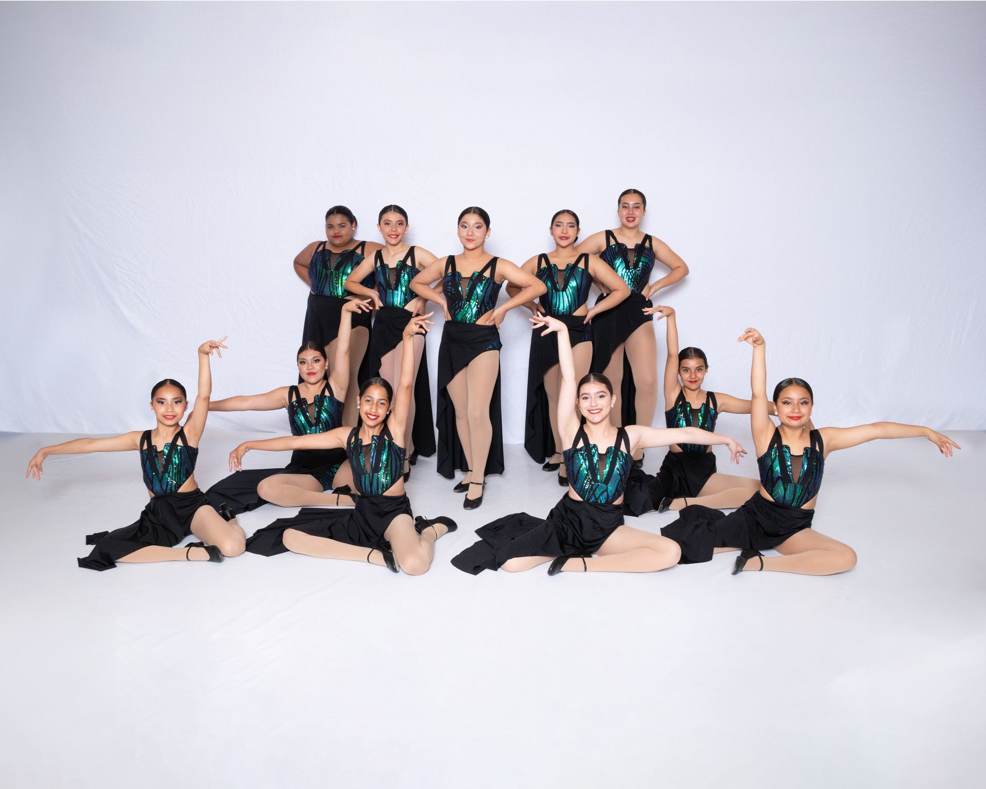
[[[471,469],[462,477],[466,482],[482,482],[486,458],[490,454],[493,425],[490,423],[490,400],[500,372],[500,351],[484,351],[456,373],[449,382],[449,396],[456,406],[456,429],[465,462]],[[479,498],[478,485],[465,494]]]

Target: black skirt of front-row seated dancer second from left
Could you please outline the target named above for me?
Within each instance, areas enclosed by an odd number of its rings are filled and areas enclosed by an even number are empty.
[[[365,548],[389,547],[384,533],[398,515],[410,515],[411,502],[399,496],[359,496],[355,509],[305,507],[292,518],[278,518],[246,540],[246,550],[261,556],[284,553],[284,532],[296,529],[313,537],[336,539]]]

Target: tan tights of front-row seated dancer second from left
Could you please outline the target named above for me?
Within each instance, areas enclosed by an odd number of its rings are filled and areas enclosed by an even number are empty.
[[[438,530],[436,532],[436,530]],[[423,575],[428,572],[432,559],[435,557],[435,540],[448,532],[443,524],[435,524],[418,535],[414,531],[414,522],[409,515],[398,515],[394,518],[384,539],[390,543],[393,558],[398,566],[408,575]],[[297,529],[284,531],[284,546],[295,553],[306,556],[316,556],[320,559],[348,559],[349,561],[368,561],[371,564],[384,565],[384,557],[379,550],[370,550],[361,545],[350,545],[337,539],[314,537],[299,532]]]

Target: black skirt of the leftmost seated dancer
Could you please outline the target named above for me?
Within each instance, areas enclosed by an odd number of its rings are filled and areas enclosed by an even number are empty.
[[[153,496],[140,519],[112,532],[86,536],[92,552],[79,559],[79,566],[90,570],[111,570],[116,560],[149,545],[174,547],[191,534],[191,519],[199,507],[208,507],[209,499],[195,488],[187,493]]]

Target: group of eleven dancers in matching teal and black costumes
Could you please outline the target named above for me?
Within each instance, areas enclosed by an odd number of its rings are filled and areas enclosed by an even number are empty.
[[[558,211],[550,222],[555,249],[518,266],[485,251],[490,217],[477,206],[458,216],[462,251],[442,257],[404,242],[408,215],[397,205],[380,211],[383,244],[357,240],[356,217],[334,206],[325,241],[294,260],[310,287],[297,384],[212,401],[210,360],[227,346],[226,337],[209,340],[198,348],[198,388],[183,423],[184,387],[165,379],[151,391],[153,429],[44,447],[28,475],[39,479],[49,455],[139,453],[150,501],[134,524],[87,537],[93,549],[80,567],[292,551],[419,575],[431,566],[435,541],[458,526],[444,516],[415,517],[404,483],[419,456],[437,452],[440,474],[464,472],[454,488],[465,494],[464,509],[482,504],[486,475],[504,470],[499,327],[524,307],[532,325],[525,448],[545,471],[557,470],[566,489],[546,518],[510,514],[476,530],[478,541],[452,560],[458,569],[514,572],[549,563],[549,575],[653,572],[720,551],[740,551],[734,574],[850,569],[852,548],[811,528],[827,456],[878,438],[925,437],[946,456],[958,446],[928,427],[893,422],[816,429],[807,382],[785,379],[768,400],[764,339],[754,328],[739,338],[753,349],[751,397],[705,389],[705,354],[679,351],[674,310],[653,303],[688,267],[640,230],[646,207],[643,193],[625,190],[620,226],[582,243],[577,214]],[[657,262],[669,273],[651,282]],[[498,304],[505,282],[509,299]],[[593,285],[599,297],[590,306]],[[428,302],[445,317],[437,442],[425,354],[435,309]],[[659,391],[655,317],[667,327],[666,428],[650,427]],[[209,410],[278,408],[287,410],[291,435],[241,444],[230,455],[233,473],[203,493],[194,468]],[[749,414],[759,479],[717,471],[713,446],[729,447],[734,463],[745,455],[715,432],[721,412]],[[648,474],[644,450],[657,447],[669,451],[658,473]],[[253,449],[292,450],[291,461],[245,468]],[[246,538],[237,516],[265,503],[302,509]],[[661,534],[624,523],[668,510],[680,514]],[[177,547],[190,535],[200,541]],[[767,548],[780,555],[765,556]]]

